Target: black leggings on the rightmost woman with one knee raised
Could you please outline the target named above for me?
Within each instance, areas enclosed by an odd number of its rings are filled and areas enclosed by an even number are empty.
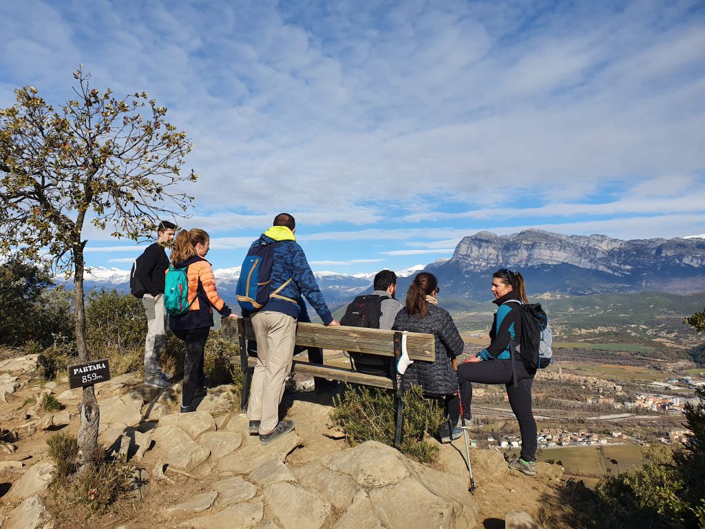
[[[484,360],[482,362],[466,362],[458,367],[458,383],[462,397],[462,411],[465,417],[470,416],[472,403],[472,384],[505,384],[512,411],[519,421],[519,431],[522,435],[521,458],[524,461],[536,461],[536,420],[531,409],[531,387],[534,375],[527,372],[521,360],[515,362],[517,370],[517,387],[512,378],[511,360]]]

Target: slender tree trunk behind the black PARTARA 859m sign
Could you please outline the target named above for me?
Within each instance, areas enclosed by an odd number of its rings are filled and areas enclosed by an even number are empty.
[[[73,306],[76,324],[76,347],[78,348],[78,361],[88,361],[88,347],[86,345],[86,315],[85,299],[83,297],[83,245],[73,250],[74,276],[73,276]],[[100,424],[100,409],[95,398],[93,386],[83,388],[83,398],[78,405],[80,426],[78,427],[78,461],[81,467],[94,463],[102,454],[98,451],[98,426]]]

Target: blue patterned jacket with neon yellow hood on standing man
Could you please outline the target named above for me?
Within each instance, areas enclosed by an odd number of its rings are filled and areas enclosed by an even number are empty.
[[[316,278],[309,267],[304,250],[296,242],[294,234],[286,226],[272,226],[252,243],[252,247],[262,241],[267,244],[279,241],[274,246],[274,260],[271,265],[269,301],[259,310],[283,312],[291,317],[300,317],[301,296],[304,296],[316,310],[324,324],[333,321],[333,315],[326,305]],[[259,311],[250,312],[256,314]],[[245,313],[243,312],[243,316]]]

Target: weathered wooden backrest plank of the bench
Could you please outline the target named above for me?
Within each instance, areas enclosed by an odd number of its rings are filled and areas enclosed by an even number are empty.
[[[250,318],[244,318],[246,340],[254,340]],[[394,356],[394,331],[364,329],[336,325],[301,323],[296,329],[296,345],[321,347],[336,351],[353,351],[382,356]],[[223,319],[223,336],[233,341],[240,339],[240,325],[234,318]],[[433,334],[407,333],[406,350],[412,360],[433,362],[436,359],[436,342]]]

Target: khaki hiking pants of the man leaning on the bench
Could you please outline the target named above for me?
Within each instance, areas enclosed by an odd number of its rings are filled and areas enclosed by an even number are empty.
[[[291,371],[296,319],[266,310],[252,316],[257,339],[257,365],[252,375],[247,419],[259,420],[259,433],[269,434],[279,422],[284,379]]]

